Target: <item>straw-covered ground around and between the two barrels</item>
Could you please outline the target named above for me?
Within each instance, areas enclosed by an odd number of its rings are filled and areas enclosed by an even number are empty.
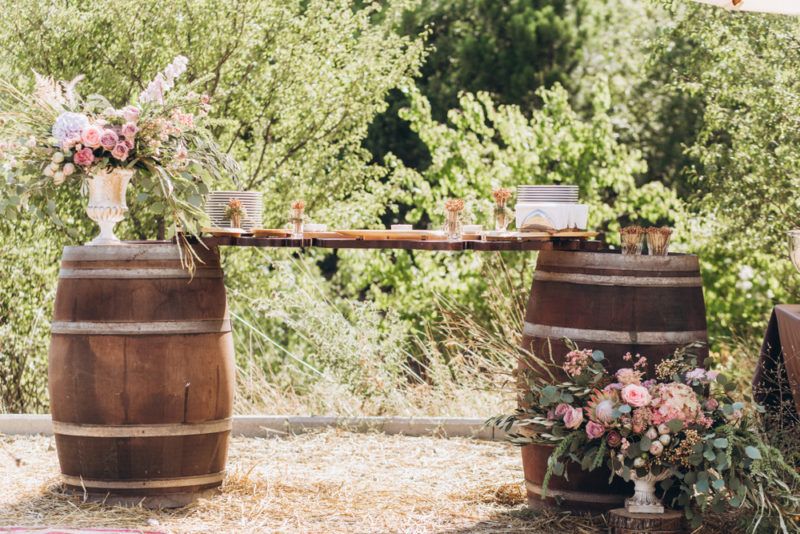
[[[179,511],[82,504],[62,492],[49,437],[0,438],[0,525],[163,532],[600,532],[526,510],[506,443],[329,430],[235,438],[220,495]]]

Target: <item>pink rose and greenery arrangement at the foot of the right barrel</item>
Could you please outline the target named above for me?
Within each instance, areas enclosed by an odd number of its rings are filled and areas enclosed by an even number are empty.
[[[517,445],[554,446],[544,495],[567,462],[606,465],[626,480],[668,472],[661,488],[694,525],[708,508],[748,505],[785,532],[800,527],[800,475],[758,434],[754,418],[763,409],[734,400],[733,383],[698,366],[695,345],[654,369],[626,354],[628,366],[616,372],[602,352],[570,346],[552,378],[524,373],[526,407],[490,420]],[[559,375],[566,379],[557,382]]]

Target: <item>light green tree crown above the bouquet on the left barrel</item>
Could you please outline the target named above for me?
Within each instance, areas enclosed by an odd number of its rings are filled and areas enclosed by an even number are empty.
[[[419,66],[421,43],[391,31],[409,5],[377,17],[349,0],[10,0],[0,63],[18,76],[85,74],[90,92],[120,106],[187,56],[190,80],[209,76],[215,133],[276,223],[292,197],[319,211],[381,176],[360,142],[386,92]]]

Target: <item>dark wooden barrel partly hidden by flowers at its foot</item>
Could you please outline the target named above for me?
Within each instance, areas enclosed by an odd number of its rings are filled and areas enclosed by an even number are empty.
[[[522,347],[556,364],[569,352],[563,338],[602,350],[610,369],[628,367],[626,352],[647,356],[650,372],[676,348],[708,340],[697,256],[627,256],[613,252],[542,251],[525,315]],[[708,353],[700,351],[700,358]],[[523,364],[524,365],[524,364]],[[535,368],[535,366],[530,366]],[[551,447],[522,450],[528,502],[599,512],[619,507],[632,486],[609,485],[604,467],[592,472],[568,467],[568,480],[553,476],[548,498],[542,480]]]

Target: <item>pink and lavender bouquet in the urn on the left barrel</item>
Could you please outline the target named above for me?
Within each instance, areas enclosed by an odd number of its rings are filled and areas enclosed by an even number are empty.
[[[99,95],[82,98],[70,82],[35,74],[32,93],[0,80],[0,160],[6,203],[41,207],[53,188],[113,168],[136,172],[139,199],[177,229],[196,234],[205,215],[202,195],[222,175],[238,173],[203,126],[209,97],[176,88],[188,60],[178,56],[149,82],[133,104],[113,106]],[[0,200],[3,200],[0,198]],[[161,208],[153,209],[153,205]],[[53,211],[48,210],[48,211]]]

